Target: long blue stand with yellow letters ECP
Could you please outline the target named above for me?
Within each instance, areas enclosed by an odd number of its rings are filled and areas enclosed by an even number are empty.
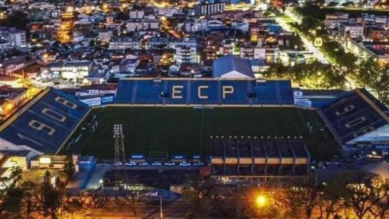
[[[115,103],[292,105],[293,94],[289,80],[127,78]]]

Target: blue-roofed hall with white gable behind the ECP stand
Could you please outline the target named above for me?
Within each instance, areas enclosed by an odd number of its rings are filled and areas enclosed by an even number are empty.
[[[231,54],[213,61],[213,77],[255,78],[250,61]]]

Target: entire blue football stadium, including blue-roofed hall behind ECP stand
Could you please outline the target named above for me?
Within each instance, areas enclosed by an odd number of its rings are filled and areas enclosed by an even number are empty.
[[[389,147],[387,108],[364,89],[301,106],[289,80],[258,80],[235,56],[214,65],[213,78],[121,79],[98,101],[44,89],[1,124],[1,149],[112,160],[122,124],[127,157],[201,156],[215,174],[235,175],[295,173],[352,148]]]

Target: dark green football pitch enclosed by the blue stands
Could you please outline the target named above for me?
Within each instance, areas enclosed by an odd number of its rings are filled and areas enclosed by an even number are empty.
[[[113,159],[113,124],[123,124],[125,152],[148,156],[150,152],[169,155],[209,155],[210,136],[302,136],[312,160],[338,154],[338,143],[316,111],[294,107],[104,107],[95,108],[95,132],[80,127],[70,138],[82,134],[71,152]],[[88,120],[88,117],[86,120]],[[307,123],[313,126],[309,132]]]

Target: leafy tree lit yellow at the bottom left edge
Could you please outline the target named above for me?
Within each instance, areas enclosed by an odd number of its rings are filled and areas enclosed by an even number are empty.
[[[22,179],[22,169],[20,167],[12,167],[10,175],[0,177],[0,215],[6,209],[11,194],[18,189],[18,184]]]

